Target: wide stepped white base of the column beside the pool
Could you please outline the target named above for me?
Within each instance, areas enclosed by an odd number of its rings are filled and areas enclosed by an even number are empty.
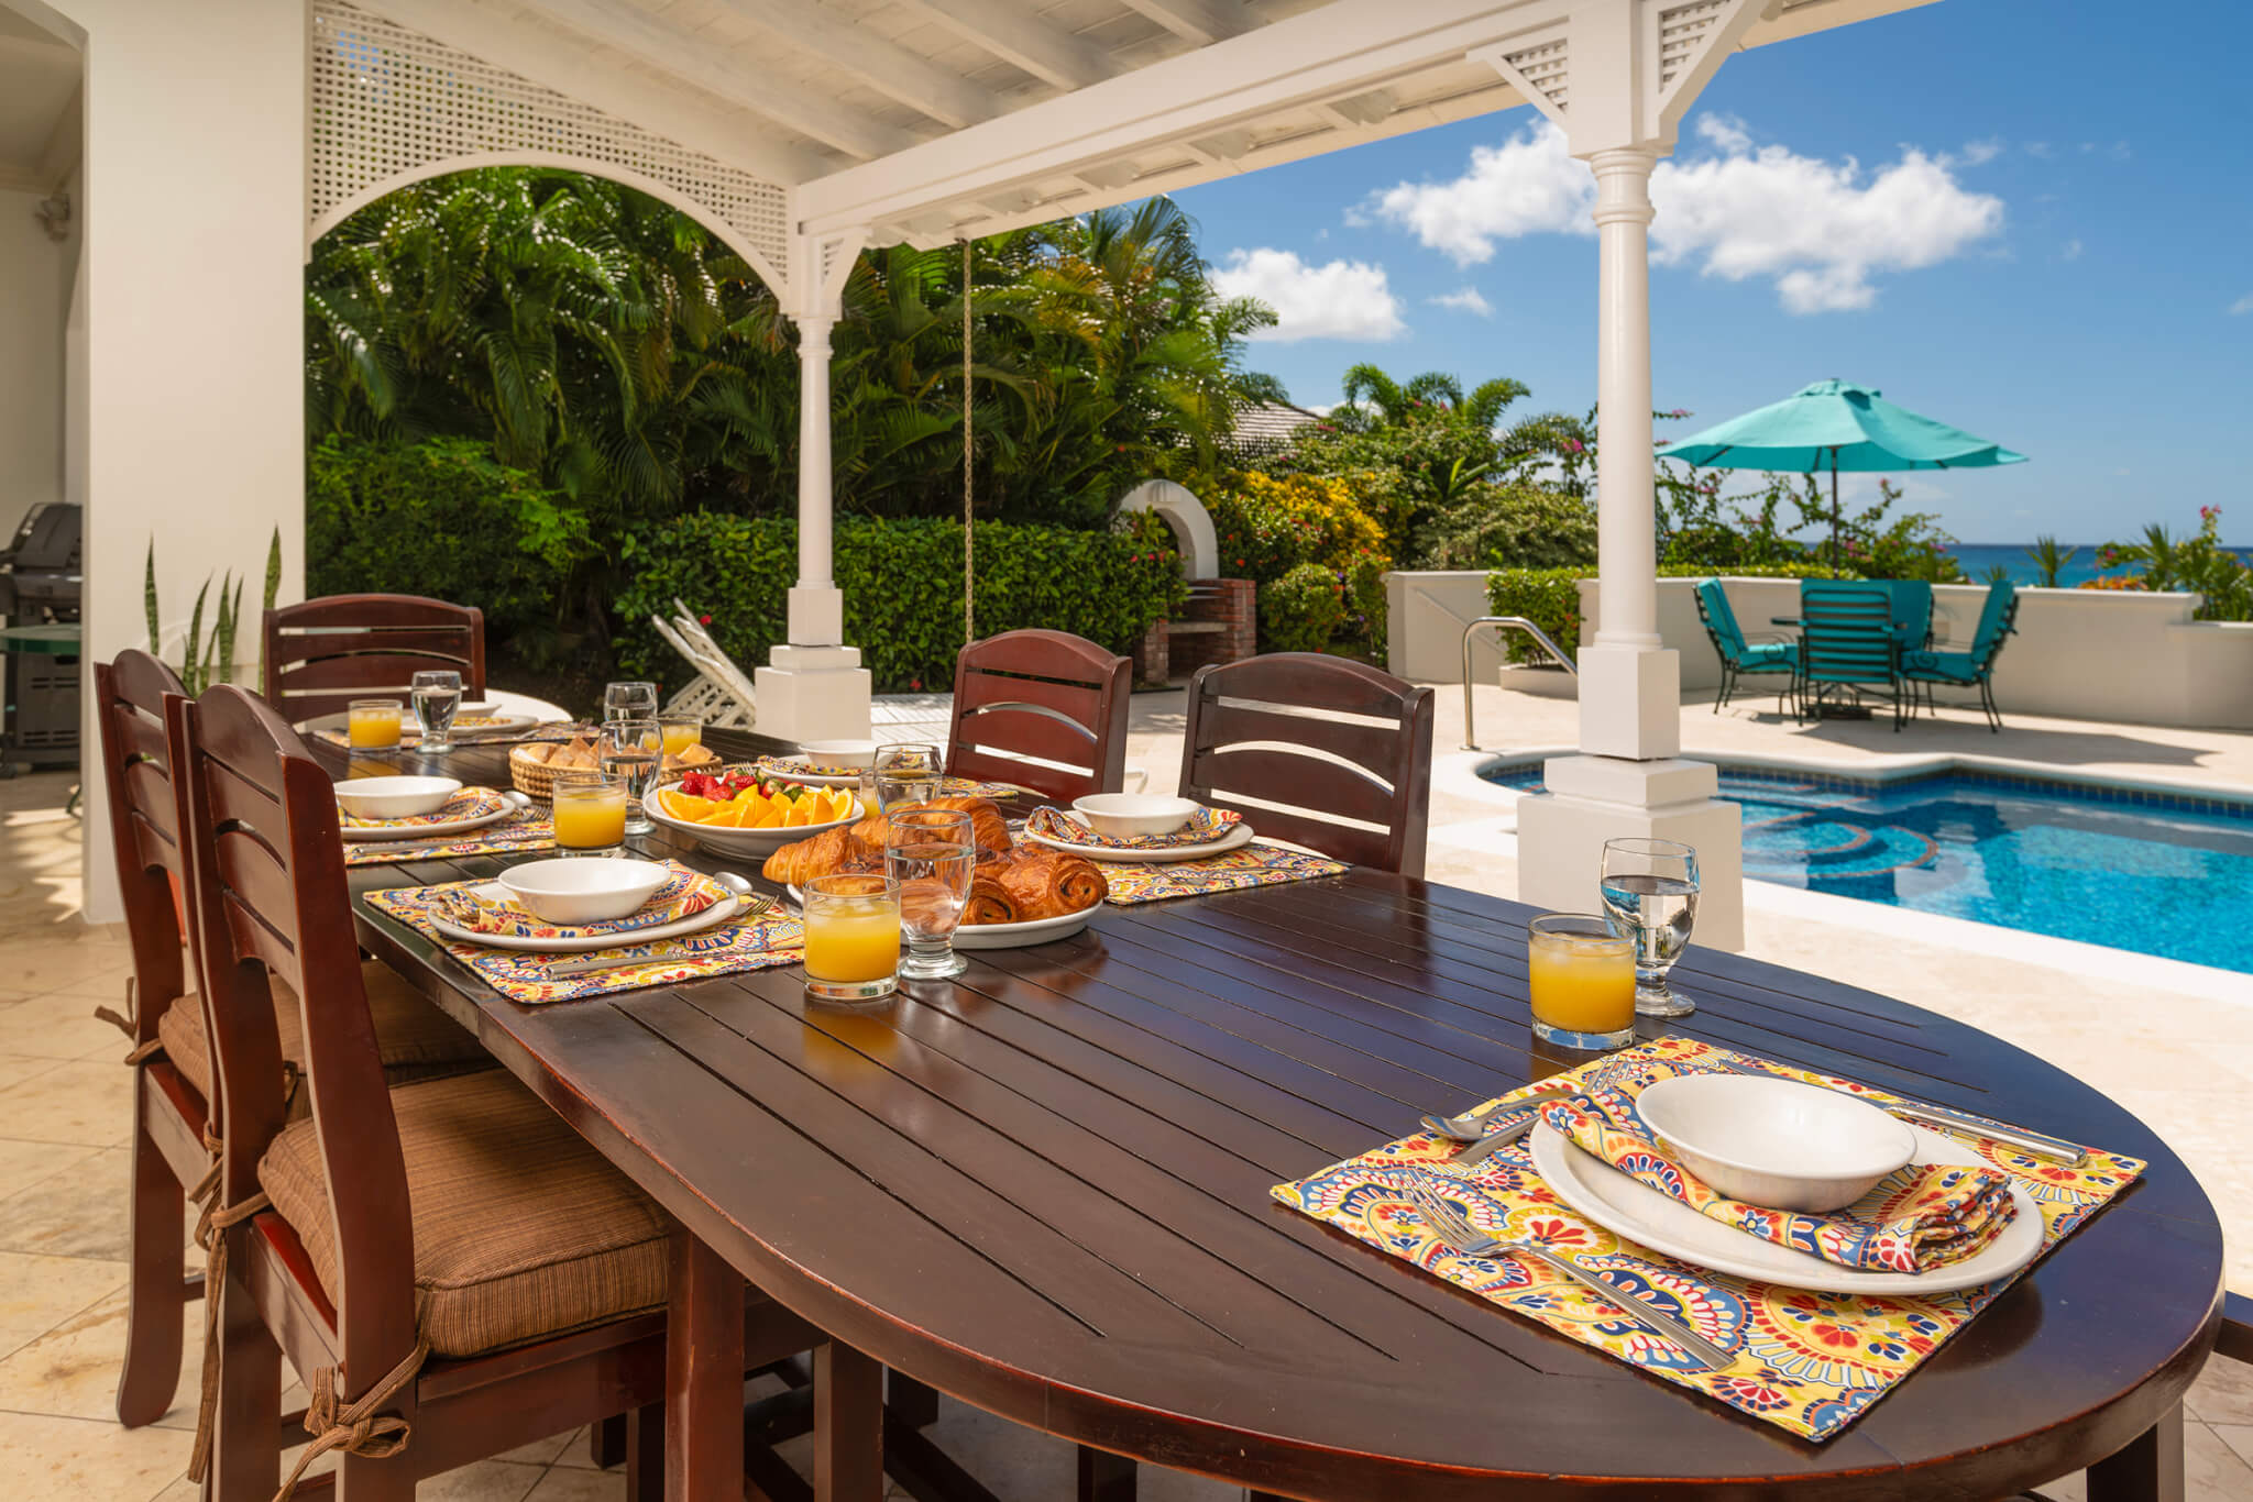
[[[1552,912],[1602,912],[1595,885],[1604,840],[1678,840],[1699,860],[1690,941],[1744,948],[1744,815],[1715,797],[1719,772],[1710,763],[1555,757],[1541,777],[1546,793],[1519,799],[1519,901]]]

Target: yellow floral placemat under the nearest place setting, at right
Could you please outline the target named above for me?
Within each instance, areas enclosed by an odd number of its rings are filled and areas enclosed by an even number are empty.
[[[1555,1085],[1557,1079],[1597,1088],[1640,1085],[1669,1074],[1715,1070],[1721,1058],[1845,1088],[1872,1101],[1893,1099],[1881,1090],[1751,1054],[1728,1054],[1690,1038],[1658,1038],[1595,1058],[1541,1081],[1541,1088]],[[1532,1085],[1512,1090],[1482,1110],[1530,1090]],[[2136,1157],[2095,1148],[2086,1162],[2068,1169],[2012,1153],[1985,1137],[1953,1135],[1953,1142],[2010,1173],[2032,1196],[2041,1207],[2043,1252],[2080,1230],[2145,1169]],[[1273,1196],[1489,1304],[1807,1439],[1820,1441],[1843,1432],[2025,1275],[2021,1268],[2010,1279],[1983,1288],[1913,1299],[1755,1284],[1663,1257],[1579,1218],[1534,1171],[1525,1142],[1514,1142],[1469,1169],[1453,1162],[1453,1151],[1455,1144],[1428,1135],[1404,1137],[1298,1182],[1275,1184]],[[1424,1227],[1401,1189],[1408,1184],[1431,1189],[1435,1180],[1449,1178],[1462,1182],[1467,1196],[1482,1200],[1476,1216],[1480,1230],[1541,1241],[1573,1257],[1624,1297],[1645,1299],[1683,1320],[1730,1351],[1735,1365],[1726,1371],[1706,1369],[1697,1358],[1645,1333],[1622,1320],[1620,1311],[1539,1263],[1516,1261],[1510,1254],[1460,1257],[1446,1250]]]

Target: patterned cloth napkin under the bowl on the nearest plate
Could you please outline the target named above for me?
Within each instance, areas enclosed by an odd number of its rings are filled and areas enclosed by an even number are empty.
[[[1687,1074],[1690,1070],[1681,1070]],[[1669,1153],[1642,1121],[1642,1088],[1591,1090],[1541,1108],[1541,1119],[1620,1173],[1748,1236],[1863,1272],[1931,1272],[1971,1257],[2019,1214],[2010,1175],[1960,1164],[1908,1164],[1836,1214],[1733,1200]]]

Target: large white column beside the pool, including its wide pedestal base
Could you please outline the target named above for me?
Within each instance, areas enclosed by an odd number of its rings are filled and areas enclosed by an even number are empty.
[[[1597,619],[1579,651],[1579,752],[1519,799],[1519,896],[1595,912],[1604,840],[1699,851],[1697,944],[1744,948],[1744,833],[1717,772],[1681,752],[1681,658],[1658,635],[1651,459],[1649,180],[1658,153],[1588,153],[1597,223]],[[1469,691],[1469,689],[1467,689]]]

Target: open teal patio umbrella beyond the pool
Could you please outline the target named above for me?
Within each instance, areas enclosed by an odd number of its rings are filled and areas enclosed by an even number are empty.
[[[1766,468],[1832,475],[1832,570],[1838,567],[1838,471],[1987,468],[2023,453],[1917,417],[1847,381],[1816,381],[1791,396],[1667,444],[1660,459],[1697,468]]]

